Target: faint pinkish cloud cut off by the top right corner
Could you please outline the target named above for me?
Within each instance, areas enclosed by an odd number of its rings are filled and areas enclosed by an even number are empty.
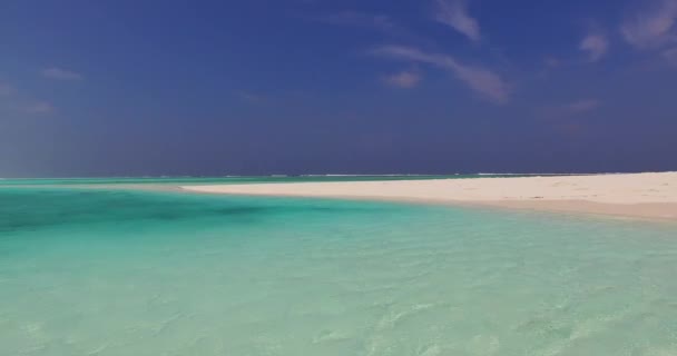
[[[645,49],[677,41],[677,0],[655,0],[653,7],[626,19],[620,32],[631,46]]]

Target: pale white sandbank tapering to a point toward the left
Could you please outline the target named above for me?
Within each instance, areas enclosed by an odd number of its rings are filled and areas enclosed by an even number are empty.
[[[475,204],[677,220],[677,172],[186,186],[212,194]]]

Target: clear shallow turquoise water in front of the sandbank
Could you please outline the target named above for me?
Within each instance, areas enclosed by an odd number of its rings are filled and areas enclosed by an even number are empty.
[[[677,227],[0,189],[0,355],[676,355]]]

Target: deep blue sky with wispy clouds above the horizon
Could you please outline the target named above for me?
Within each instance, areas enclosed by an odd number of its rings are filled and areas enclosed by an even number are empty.
[[[677,169],[677,0],[3,1],[0,177]]]

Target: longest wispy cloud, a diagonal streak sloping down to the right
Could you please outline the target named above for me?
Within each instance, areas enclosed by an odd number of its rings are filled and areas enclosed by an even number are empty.
[[[484,68],[462,65],[449,55],[429,53],[404,46],[379,47],[372,50],[372,55],[428,63],[448,70],[473,91],[496,103],[508,102],[510,98],[508,85],[498,75]]]

